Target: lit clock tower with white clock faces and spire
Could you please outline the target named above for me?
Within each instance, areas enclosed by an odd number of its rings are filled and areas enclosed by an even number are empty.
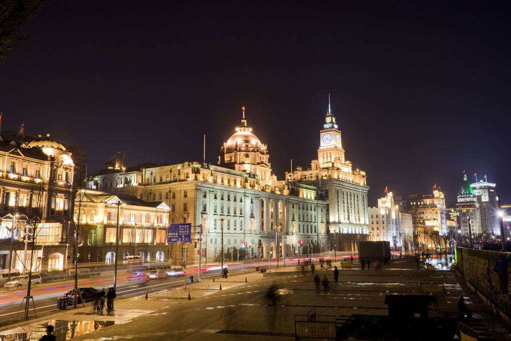
[[[344,163],[344,149],[341,144],[341,131],[335,122],[335,116],[330,110],[330,96],[328,112],[325,117],[323,129],[319,132],[318,161],[320,167],[334,166]]]

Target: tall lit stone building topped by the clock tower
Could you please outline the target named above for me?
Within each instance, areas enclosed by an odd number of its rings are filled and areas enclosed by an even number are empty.
[[[317,160],[312,160],[311,168],[301,167],[286,173],[290,181],[312,185],[324,190],[328,200],[327,225],[331,249],[357,251],[357,242],[368,239],[368,213],[365,172],[353,170],[352,163],[345,160],[334,115],[329,110],[323,129],[319,131]],[[335,239],[335,240],[334,240]],[[334,246],[337,245],[337,246]]]

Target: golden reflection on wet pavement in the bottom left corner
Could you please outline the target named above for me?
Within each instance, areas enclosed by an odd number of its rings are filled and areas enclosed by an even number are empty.
[[[46,323],[41,323],[38,326],[30,328],[15,328],[0,333],[0,341],[25,341],[25,340],[38,340],[46,334],[46,327],[48,325],[54,326],[53,334],[56,336],[57,341],[68,340],[80,335],[88,334],[93,331],[112,326],[114,324],[121,324],[120,321],[75,321],[75,320],[49,320]]]

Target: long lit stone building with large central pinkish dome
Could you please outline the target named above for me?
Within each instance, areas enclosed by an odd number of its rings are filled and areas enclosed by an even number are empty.
[[[244,115],[221,152],[216,165],[184,162],[125,168],[120,164],[119,169],[89,176],[86,187],[148,202],[164,201],[170,207],[170,223],[194,226],[194,241],[202,225],[202,245],[169,244],[173,262],[197,263],[198,252],[206,262],[218,260],[222,228],[226,253],[236,248],[245,258],[275,258],[275,246],[280,258],[307,254],[309,249],[326,251],[324,192],[270,175],[267,147],[251,132]],[[298,246],[299,240],[304,241],[303,247]]]

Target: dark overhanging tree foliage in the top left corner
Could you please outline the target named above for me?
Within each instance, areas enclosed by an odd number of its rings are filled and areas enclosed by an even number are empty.
[[[41,9],[44,0],[4,0],[0,1],[0,64],[9,58],[5,51],[14,51],[14,44],[29,40],[20,33]]]

